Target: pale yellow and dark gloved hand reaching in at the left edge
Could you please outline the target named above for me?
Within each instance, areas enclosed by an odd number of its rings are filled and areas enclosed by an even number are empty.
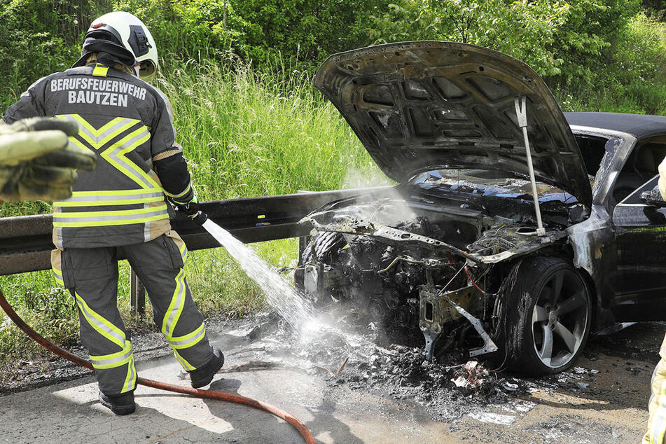
[[[95,169],[95,155],[70,148],[74,120],[29,118],[0,125],[0,200],[60,200],[71,196],[76,169]]]

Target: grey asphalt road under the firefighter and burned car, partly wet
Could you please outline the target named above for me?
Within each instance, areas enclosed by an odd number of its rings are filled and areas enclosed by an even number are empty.
[[[248,336],[249,330],[238,325],[210,330],[213,342],[228,355],[225,368],[257,358],[271,360],[265,351],[271,338]],[[611,336],[592,338],[576,369],[538,379],[501,375],[505,382],[517,382],[527,389],[502,403],[480,403],[473,394],[461,395],[442,407],[458,408],[459,414],[439,421],[432,419],[432,406],[426,409],[414,398],[349,384],[346,370],[331,377],[298,366],[241,367],[218,375],[210,388],[267,401],[291,412],[318,443],[635,443],[644,432],[649,380],[665,330],[660,323],[638,324]],[[258,349],[263,349],[261,356],[253,351]],[[275,363],[284,363],[284,349],[273,358]],[[139,359],[137,369],[143,377],[188,385],[173,356]],[[0,396],[0,440],[303,442],[281,419],[242,405],[139,387],[137,412],[116,417],[97,403],[97,385],[90,375],[42,383],[47,385]]]

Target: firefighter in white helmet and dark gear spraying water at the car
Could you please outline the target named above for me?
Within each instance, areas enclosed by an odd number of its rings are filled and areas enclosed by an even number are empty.
[[[78,174],[71,197],[53,202],[53,272],[76,300],[81,342],[99,383],[99,401],[116,415],[134,412],[137,372],[116,304],[118,259],[127,258],[153,306],[153,320],[204,387],[224,356],[209,344],[186,282],[187,249],[169,225],[167,200],[195,218],[197,199],[172,108],[147,81],[158,69],[155,41],[125,12],[97,18],[71,69],[36,81],[10,106],[6,123],[32,116],[71,118],[75,148],[95,153],[97,169]]]

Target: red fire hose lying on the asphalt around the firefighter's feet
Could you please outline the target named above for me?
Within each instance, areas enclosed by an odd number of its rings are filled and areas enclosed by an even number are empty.
[[[71,354],[70,352],[67,352],[67,350],[58,347],[52,342],[49,342],[48,340],[44,339],[41,335],[39,335],[39,333],[34,331],[32,327],[26,324],[25,321],[21,319],[21,317],[14,311],[12,306],[9,305],[8,301],[6,300],[1,290],[0,290],[0,307],[2,307],[2,310],[4,310],[9,319],[11,319],[14,322],[14,324],[18,326],[18,328],[24,331],[25,334],[27,334],[35,342],[39,343],[39,345],[42,345],[51,352],[77,364],[78,366],[89,368],[90,370],[92,370],[92,364],[89,361],[81,359],[78,356]],[[260,410],[265,410],[266,412],[272,413],[272,415],[284,419],[286,422],[289,422],[289,424],[294,426],[296,430],[298,430],[298,433],[300,433],[300,435],[303,436],[307,444],[314,444],[314,438],[312,437],[312,433],[310,433],[310,430],[307,429],[307,427],[305,426],[305,424],[303,424],[303,422],[300,422],[298,419],[293,417],[288,412],[285,412],[281,408],[277,408],[268,403],[264,403],[262,401],[256,401],[254,399],[246,398],[245,396],[240,396],[236,394],[223,393],[221,391],[214,391],[214,390],[191,389],[190,387],[181,387],[179,385],[167,384],[165,382],[146,380],[142,377],[139,377],[137,379],[137,382],[141,385],[145,385],[146,387],[153,387],[153,389],[174,391],[176,393],[192,395],[195,396],[196,398],[217,399],[218,401],[227,401],[230,403],[249,405],[250,407],[258,408]]]

